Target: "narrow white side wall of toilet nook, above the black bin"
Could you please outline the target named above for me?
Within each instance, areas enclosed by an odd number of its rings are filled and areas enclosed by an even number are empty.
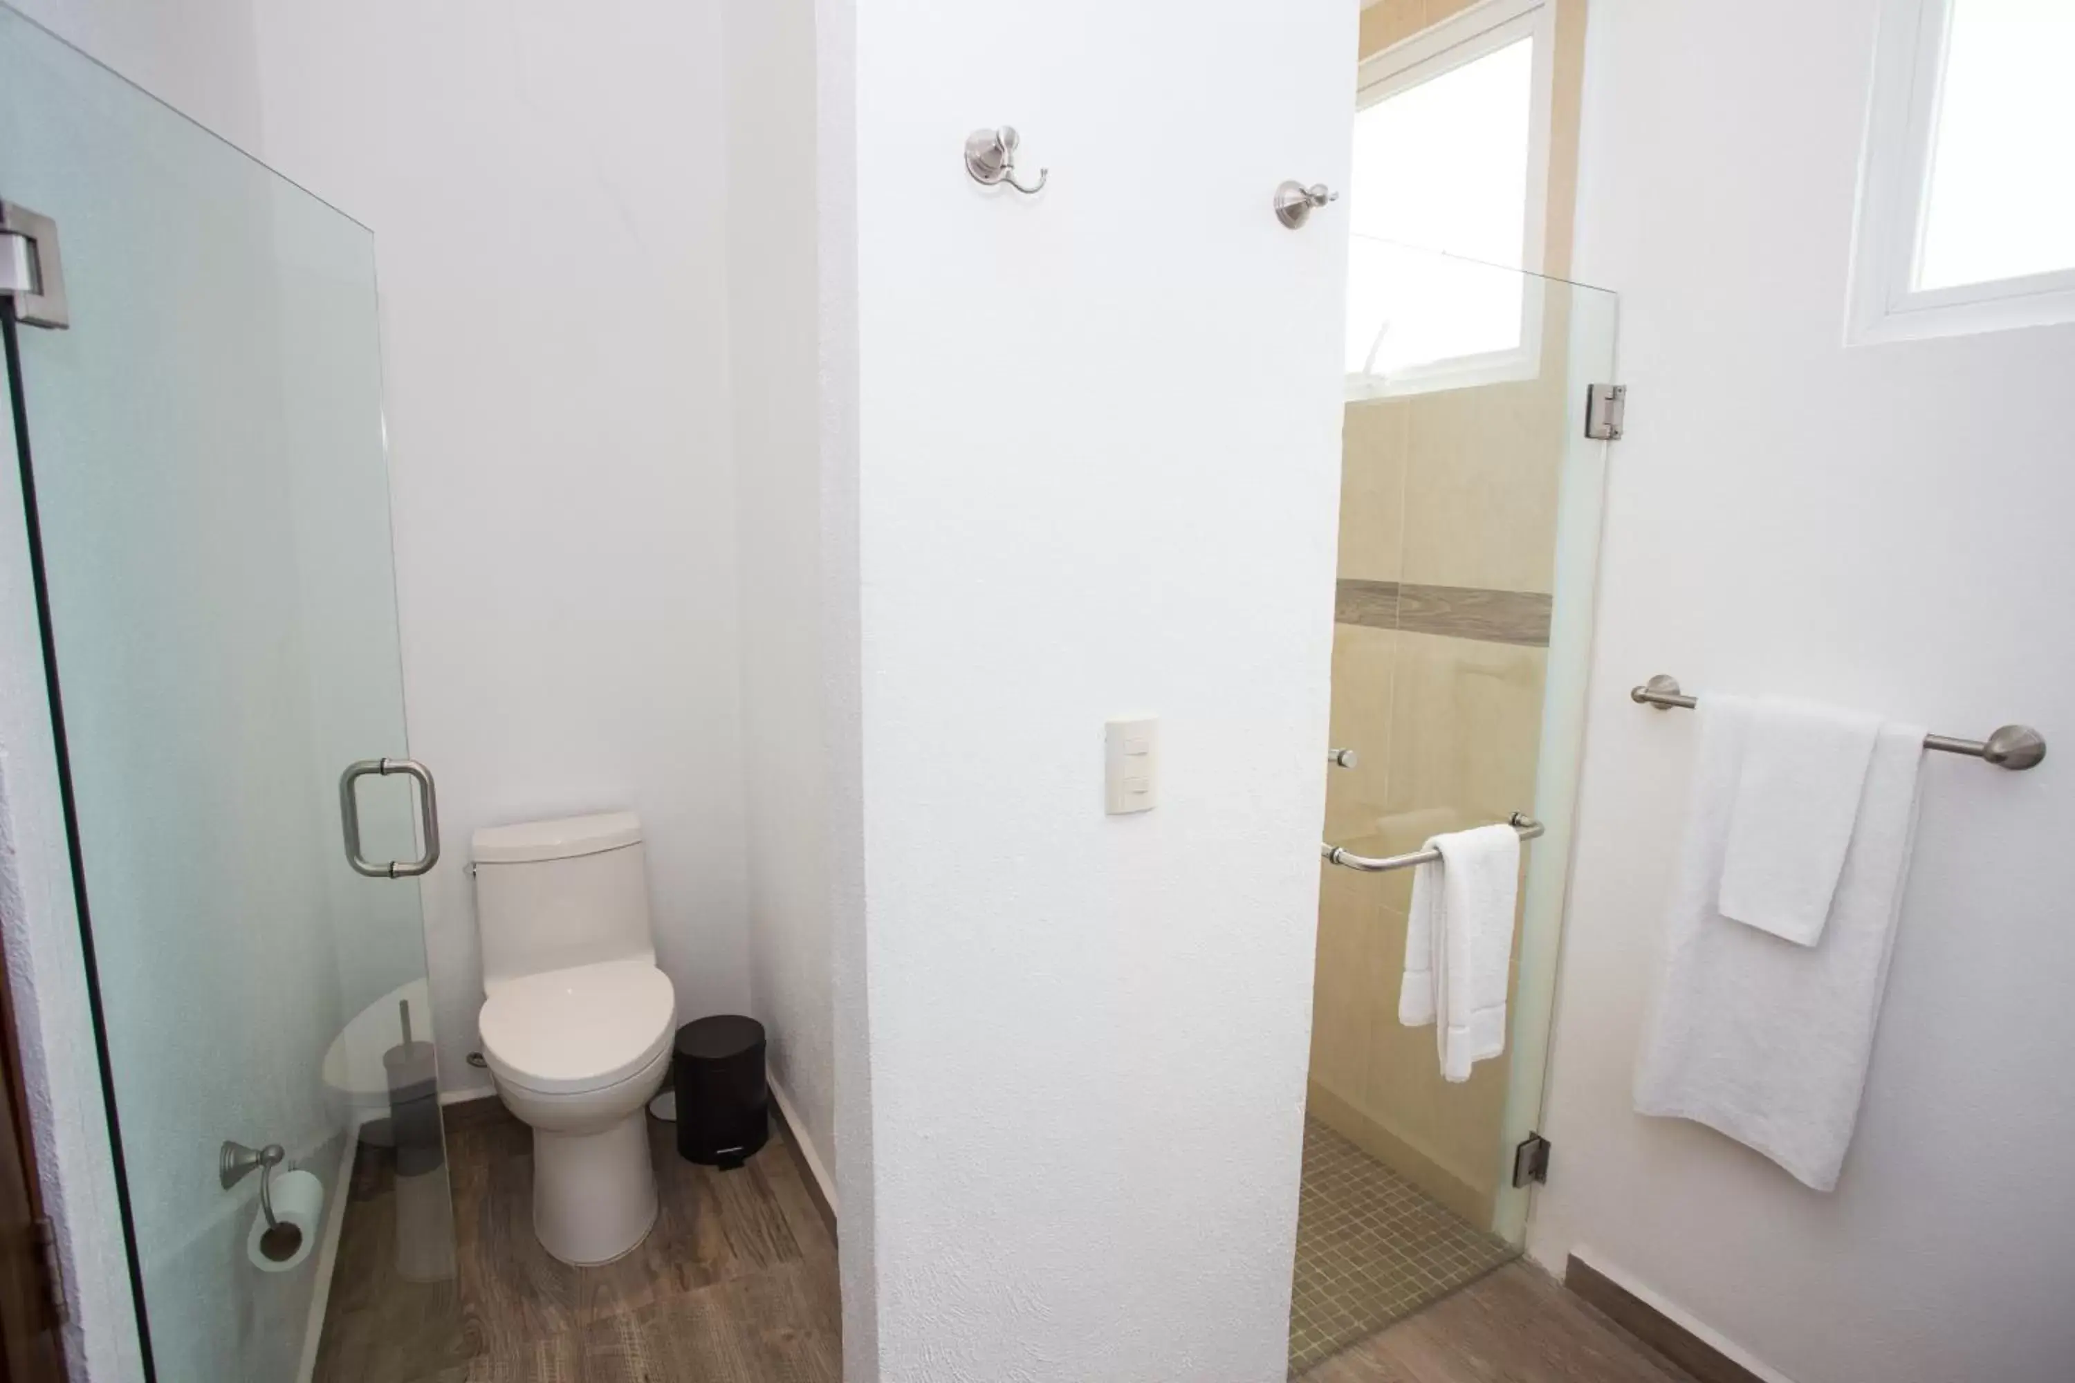
[[[751,1012],[834,1157],[830,742],[811,0],[728,0],[728,382],[737,454]]]

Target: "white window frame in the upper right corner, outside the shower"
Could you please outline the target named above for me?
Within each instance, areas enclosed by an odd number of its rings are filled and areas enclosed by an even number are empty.
[[[2075,321],[2075,265],[1917,288],[1953,0],[1886,0],[1874,52],[1847,344],[1971,336]]]

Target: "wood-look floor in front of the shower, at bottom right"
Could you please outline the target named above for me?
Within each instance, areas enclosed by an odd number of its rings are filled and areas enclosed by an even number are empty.
[[[1666,1358],[1565,1292],[1509,1263],[1419,1315],[1336,1354],[1299,1383],[1691,1383]]]

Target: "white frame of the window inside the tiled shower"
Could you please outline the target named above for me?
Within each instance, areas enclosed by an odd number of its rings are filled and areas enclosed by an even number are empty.
[[[1531,39],[1527,89],[1527,189],[1523,197],[1521,342],[1506,350],[1457,355],[1428,361],[1388,377],[1347,375],[1347,402],[1403,398],[1440,390],[1533,379],[1542,371],[1544,253],[1548,238],[1550,122],[1554,108],[1556,6],[1552,0],[1479,0],[1448,19],[1421,29],[1363,58],[1355,68],[1355,114],[1444,77],[1459,66],[1490,56],[1519,39]],[[1448,251],[1434,247],[1436,255]],[[1461,259],[1461,255],[1455,255]]]

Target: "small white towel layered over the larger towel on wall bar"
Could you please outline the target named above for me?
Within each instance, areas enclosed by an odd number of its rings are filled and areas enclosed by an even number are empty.
[[[1722,916],[1816,945],[1859,819],[1880,717],[1766,697],[1737,778]]]

